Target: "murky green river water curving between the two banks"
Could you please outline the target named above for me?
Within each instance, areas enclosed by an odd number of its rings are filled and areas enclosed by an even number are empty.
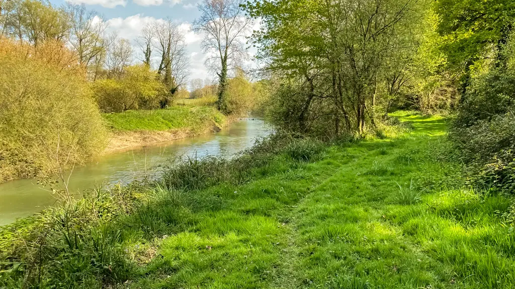
[[[247,118],[232,123],[218,133],[104,155],[86,166],[75,168],[70,177],[70,188],[78,193],[102,183],[128,183],[156,166],[170,164],[180,156],[231,157],[252,147],[256,138],[267,136],[270,132],[263,120]],[[55,203],[55,197],[38,185],[36,179],[16,179],[0,184],[0,226]]]

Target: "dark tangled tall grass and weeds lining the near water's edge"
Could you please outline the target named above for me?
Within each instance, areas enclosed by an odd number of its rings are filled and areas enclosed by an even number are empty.
[[[140,254],[128,243],[161,240],[196,222],[193,213],[225,206],[226,200],[202,189],[243,184],[321,151],[319,142],[273,135],[231,160],[186,157],[166,168],[157,183],[97,188],[28,224],[2,228],[0,286],[94,288],[125,282],[138,273],[138,258],[131,256]]]

